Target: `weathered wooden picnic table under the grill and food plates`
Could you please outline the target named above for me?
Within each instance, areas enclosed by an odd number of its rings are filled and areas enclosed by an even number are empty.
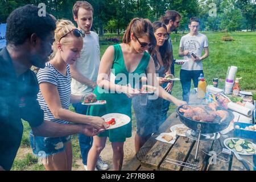
[[[172,171],[186,171],[191,170],[186,167],[178,166],[166,162],[166,159],[178,160],[186,163],[194,163],[196,144],[195,140],[188,139],[187,137],[179,137],[174,144],[164,143],[156,140],[160,133],[170,133],[170,127],[176,124],[180,124],[180,118],[176,117],[176,113],[172,113],[170,117],[160,126],[159,131],[152,135],[150,139],[142,146],[141,150],[133,159],[130,160],[123,170],[126,171],[152,171],[152,170],[172,170]],[[204,151],[216,151],[219,154],[224,147],[223,141],[225,138],[233,137],[233,131],[230,131],[226,135],[221,135],[218,140],[205,140],[200,141],[199,152],[197,159],[197,165],[200,166],[201,171],[245,171],[246,168],[243,164],[233,155],[221,154],[220,156],[228,160],[228,162],[221,162],[217,160],[216,165],[208,165],[209,155],[204,154]],[[242,158],[248,160],[253,164],[255,157],[253,155],[241,155]],[[255,155],[254,155],[255,156]],[[254,164],[255,165],[255,164]],[[253,167],[249,164],[250,170]]]

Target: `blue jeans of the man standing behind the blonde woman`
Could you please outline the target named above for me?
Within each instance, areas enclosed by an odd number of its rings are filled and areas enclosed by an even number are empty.
[[[76,113],[86,115],[88,106],[82,105],[81,103],[76,103],[72,105],[75,108]],[[92,143],[93,143],[93,137],[88,137],[86,135],[79,134],[79,146],[80,146],[80,151],[82,155],[82,163],[84,165],[87,165],[87,156],[88,156],[90,147],[92,147]]]

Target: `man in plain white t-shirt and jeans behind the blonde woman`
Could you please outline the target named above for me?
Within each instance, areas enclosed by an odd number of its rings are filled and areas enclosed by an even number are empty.
[[[86,1],[77,1],[73,6],[73,18],[77,28],[85,33],[84,46],[80,58],[75,64],[70,65],[71,69],[71,92],[76,96],[93,93],[96,87],[98,68],[100,66],[100,45],[96,32],[90,31],[93,24],[93,7]],[[81,102],[73,104],[76,113],[86,114],[88,106]],[[82,155],[82,163],[87,169],[87,156],[92,147],[93,138],[86,135],[79,135],[79,144]],[[96,164],[97,169],[107,170],[108,164],[104,163],[101,157]]]

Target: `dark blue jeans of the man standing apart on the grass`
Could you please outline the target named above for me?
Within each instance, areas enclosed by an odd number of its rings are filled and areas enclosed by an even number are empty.
[[[189,102],[191,80],[193,80],[194,88],[197,88],[198,78],[200,77],[201,73],[203,73],[204,76],[203,70],[188,71],[185,69],[180,69],[180,82],[183,91],[183,101],[186,101],[187,103]]]

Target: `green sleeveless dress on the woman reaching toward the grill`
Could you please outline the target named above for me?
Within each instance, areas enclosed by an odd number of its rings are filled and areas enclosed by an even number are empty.
[[[146,72],[149,61],[149,53],[144,52],[144,55],[142,56],[138,67],[135,69],[134,72],[129,73],[125,67],[121,46],[119,44],[114,45],[114,60],[112,65],[112,73],[116,76],[115,84],[119,84],[120,82],[122,82],[123,85],[131,84],[131,86],[133,86],[134,88],[134,74],[142,76],[143,73]],[[127,79],[122,80],[123,76],[126,76]],[[88,111],[89,115],[102,117],[102,115],[109,113],[121,113],[126,114],[131,118],[131,99],[127,97],[126,94],[116,92],[106,93],[106,91],[104,93],[104,90],[98,86],[94,90],[94,94],[96,94],[97,100],[106,100],[106,105],[90,106],[90,109]],[[131,123],[132,122],[129,122],[127,125],[119,127],[117,129],[106,130],[104,131],[104,133],[100,133],[98,137],[109,137],[110,142],[125,142],[126,138],[131,137]]]

